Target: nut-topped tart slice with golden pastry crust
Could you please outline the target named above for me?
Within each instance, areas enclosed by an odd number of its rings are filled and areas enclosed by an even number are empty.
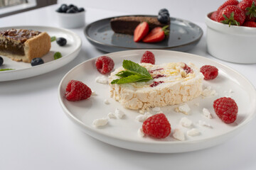
[[[46,32],[26,29],[0,31],[0,55],[17,62],[31,62],[50,51],[50,36]]]

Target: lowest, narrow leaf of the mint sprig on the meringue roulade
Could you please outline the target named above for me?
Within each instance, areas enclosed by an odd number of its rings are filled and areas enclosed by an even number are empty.
[[[122,77],[121,79],[114,79],[111,84],[127,84],[136,81],[149,81],[150,77],[144,77],[138,74],[133,74],[129,77]]]

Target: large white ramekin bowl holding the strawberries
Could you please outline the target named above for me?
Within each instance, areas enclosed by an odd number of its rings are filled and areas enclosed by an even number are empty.
[[[206,16],[207,50],[220,60],[241,64],[255,64],[256,28],[228,26]]]

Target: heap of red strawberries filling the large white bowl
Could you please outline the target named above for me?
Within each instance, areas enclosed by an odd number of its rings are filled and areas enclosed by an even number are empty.
[[[210,19],[229,26],[255,27],[256,0],[228,0],[214,11]]]

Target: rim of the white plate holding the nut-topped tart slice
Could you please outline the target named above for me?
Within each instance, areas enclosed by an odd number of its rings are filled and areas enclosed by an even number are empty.
[[[0,30],[4,30],[4,29],[11,29],[11,28],[46,28],[46,29],[53,29],[53,30],[64,30],[65,32],[68,32],[70,35],[72,35],[73,37],[75,37],[75,40],[78,40],[78,46],[75,47],[75,49],[68,53],[68,55],[65,55],[65,56],[70,56],[70,55],[73,55],[75,52],[80,51],[81,47],[82,47],[82,39],[76,34],[74,33],[73,31],[71,30],[68,30],[68,29],[65,29],[65,28],[57,28],[57,27],[52,27],[52,26],[26,26],[26,25],[23,25],[23,26],[6,26],[6,27],[0,27]],[[36,66],[33,66],[33,67],[26,67],[26,68],[22,68],[22,69],[14,69],[14,70],[9,70],[9,71],[6,71],[6,72],[0,72],[0,76],[3,76],[4,74],[14,74],[15,72],[26,72],[27,70],[30,70],[30,69],[40,69],[42,67],[49,67],[48,65],[51,65],[55,62],[60,62],[60,61],[63,61],[63,60],[66,60],[66,57],[63,56],[61,58],[59,58],[58,60],[52,60],[50,62],[46,62],[44,64],[40,64],[40,65],[36,65]],[[77,57],[77,56],[75,56]],[[75,59],[75,57],[73,59]],[[68,64],[68,63],[65,63],[65,64]],[[65,64],[60,64],[61,66],[60,67],[63,67]],[[58,69],[60,67],[56,67],[55,69]],[[51,69],[50,71],[48,72],[51,72],[55,69]],[[46,74],[47,72],[43,72],[41,74]],[[1,75],[2,74],[2,75]],[[28,76],[28,77],[35,77],[37,75],[41,75],[41,74],[34,74],[33,76]],[[23,77],[21,79],[26,79],[28,77]],[[12,80],[18,80],[18,79],[7,79],[7,80],[0,80],[1,81],[12,81]]]

